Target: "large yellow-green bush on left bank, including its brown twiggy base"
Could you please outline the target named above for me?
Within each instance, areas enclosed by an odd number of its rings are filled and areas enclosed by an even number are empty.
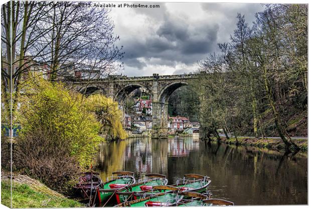
[[[91,165],[101,138],[100,123],[82,94],[60,83],[33,78],[16,112],[22,129],[14,164],[28,175],[66,193],[78,173]]]

